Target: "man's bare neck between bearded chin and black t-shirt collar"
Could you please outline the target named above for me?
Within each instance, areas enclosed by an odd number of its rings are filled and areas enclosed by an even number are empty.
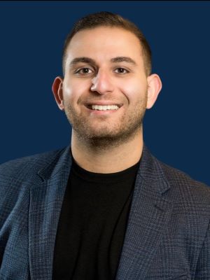
[[[129,141],[106,149],[82,141],[73,130],[71,134],[73,159],[89,172],[108,174],[123,171],[139,162],[142,149],[142,130]]]

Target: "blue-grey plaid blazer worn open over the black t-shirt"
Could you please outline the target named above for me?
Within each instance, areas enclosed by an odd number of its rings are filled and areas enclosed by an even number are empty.
[[[0,280],[52,279],[70,168],[70,146],[0,166]],[[209,280],[209,218],[210,189],[144,146],[116,280]]]

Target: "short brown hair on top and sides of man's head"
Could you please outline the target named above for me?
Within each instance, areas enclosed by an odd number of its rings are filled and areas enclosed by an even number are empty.
[[[96,27],[120,27],[127,31],[132,32],[134,35],[139,38],[139,41],[141,43],[142,51],[143,51],[143,57],[144,57],[144,66],[146,75],[149,76],[151,74],[152,70],[152,53],[151,48],[146,41],[146,38],[144,37],[144,34],[141,32],[141,30],[134,25],[133,22],[130,22],[130,20],[126,20],[125,18],[121,17],[120,15],[116,15],[114,13],[110,12],[99,12],[99,13],[92,13],[90,15],[85,16],[84,18],[81,18],[78,20],[78,22],[75,23],[73,26],[73,29],[71,32],[66,36],[66,40],[64,43],[63,48],[63,55],[62,55],[62,67],[63,67],[63,73],[65,73],[65,63],[66,63],[66,49],[71,41],[71,38],[78,32],[84,29],[93,29]]]

